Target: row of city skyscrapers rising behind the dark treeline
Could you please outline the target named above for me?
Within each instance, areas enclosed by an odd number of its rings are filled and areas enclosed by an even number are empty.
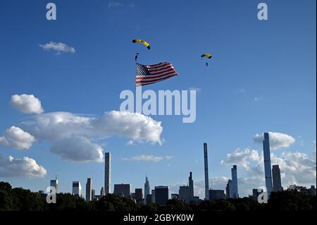
[[[271,192],[280,192],[283,191],[282,188],[282,180],[280,177],[280,167],[278,164],[275,164],[271,166],[271,156],[269,154],[270,152],[270,140],[269,140],[269,133],[263,133],[263,155],[267,154],[267,157],[263,157],[264,162],[264,178],[266,180],[266,191],[268,192],[268,197],[271,195]],[[208,190],[208,196],[205,195],[204,200],[219,200],[219,199],[229,199],[229,198],[239,198],[238,193],[238,183],[237,183],[237,165],[233,165],[231,168],[231,179],[228,179],[227,186],[222,190],[215,190],[213,188],[209,188],[208,185],[206,185],[209,181],[209,171],[208,171],[208,148],[207,143],[204,142],[204,174],[205,174],[205,194],[206,190]],[[105,170],[104,170],[104,177],[105,177],[105,183],[104,185],[107,186],[108,190],[110,188],[109,183],[111,180],[110,175],[110,161],[111,161],[111,152],[105,152]],[[268,163],[267,163],[268,162]],[[270,170],[269,173],[266,173]],[[269,175],[268,175],[269,174]],[[268,181],[268,178],[270,179]],[[206,183],[207,181],[207,183]],[[74,186],[75,184],[75,186]],[[51,180],[50,185],[53,186],[56,189],[56,193],[58,193],[58,180],[57,176],[55,180]],[[290,185],[294,186],[294,185]],[[315,186],[311,186],[313,188]],[[75,188],[75,189],[74,189]],[[94,189],[92,189],[92,179],[87,178],[86,183],[86,201],[92,201],[95,199],[94,195]],[[145,183],[144,188],[135,188],[135,193],[131,192],[131,184],[113,184],[113,194],[119,195],[121,197],[127,197],[132,198],[135,200],[135,202],[139,204],[149,204],[148,199],[151,199],[151,203],[155,202],[155,197],[152,197],[153,193],[155,193],[156,188],[167,188],[168,189],[168,198],[167,199],[179,199],[184,202],[191,202],[194,200],[199,200],[199,196],[194,195],[194,181],[192,179],[192,171],[189,172],[188,182],[187,186],[180,186],[178,193],[169,193],[169,186],[155,186],[154,190],[151,190],[151,187],[149,185],[149,179],[147,176],[145,176]],[[271,188],[271,189],[270,189]],[[151,190],[151,194],[150,194]],[[259,190],[263,192],[263,189],[259,187]],[[252,193],[250,196],[254,198],[254,200],[257,199],[257,196],[259,195],[258,188],[253,188]],[[39,190],[40,193],[44,193],[43,190]],[[81,187],[79,181],[73,181],[73,195],[80,195]],[[110,193],[110,192],[108,192]],[[102,197],[104,195],[107,195],[108,193],[104,192],[104,187],[101,187],[101,194],[98,195],[97,199],[99,197]],[[144,195],[143,195],[144,193]],[[149,195],[149,196],[148,196]],[[202,199],[200,199],[202,200]],[[159,205],[162,205],[163,200],[159,200]]]

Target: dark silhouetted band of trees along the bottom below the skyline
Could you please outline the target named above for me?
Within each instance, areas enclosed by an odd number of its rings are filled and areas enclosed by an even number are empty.
[[[166,205],[139,205],[125,197],[108,194],[100,200],[86,202],[70,193],[58,193],[56,204],[46,203],[46,197],[23,188],[12,188],[0,182],[0,211],[130,211],[130,212],[307,212],[316,210],[316,196],[308,189],[292,186],[279,193],[271,193],[268,204],[259,204],[248,197],[229,200],[190,202],[168,200]]]

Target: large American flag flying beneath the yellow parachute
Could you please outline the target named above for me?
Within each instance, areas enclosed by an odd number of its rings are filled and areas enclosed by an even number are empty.
[[[171,63],[163,62],[155,65],[142,65],[137,63],[135,86],[151,85],[175,75],[178,75],[178,73]]]

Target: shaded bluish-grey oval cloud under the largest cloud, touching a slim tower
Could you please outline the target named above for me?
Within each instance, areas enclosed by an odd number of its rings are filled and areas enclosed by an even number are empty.
[[[83,137],[68,137],[53,142],[51,152],[62,159],[77,162],[103,162],[104,150],[100,145]]]

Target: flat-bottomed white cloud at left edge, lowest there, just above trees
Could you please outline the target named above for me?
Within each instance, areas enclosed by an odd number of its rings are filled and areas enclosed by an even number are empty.
[[[35,159],[23,157],[15,159],[11,156],[4,159],[0,154],[0,177],[43,177],[46,175],[46,169],[37,164]]]

